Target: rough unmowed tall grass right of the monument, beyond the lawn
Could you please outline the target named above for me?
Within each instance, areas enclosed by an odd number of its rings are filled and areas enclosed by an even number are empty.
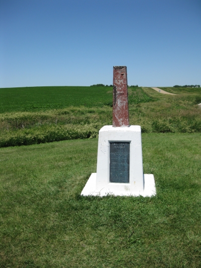
[[[146,133],[201,132],[199,95],[171,96],[152,92],[149,88],[144,90],[158,100],[130,106],[131,125],[140,125]]]

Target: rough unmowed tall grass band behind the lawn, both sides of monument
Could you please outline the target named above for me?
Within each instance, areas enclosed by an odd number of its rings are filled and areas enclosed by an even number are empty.
[[[111,92],[108,94],[112,95]],[[144,95],[141,92],[145,92]],[[201,109],[197,105],[201,96],[197,93],[172,96],[150,88],[143,88],[143,91],[129,88],[131,102],[134,96],[136,104],[129,105],[130,125],[140,125],[142,133],[201,132]],[[144,102],[146,96],[149,99]],[[0,146],[95,137],[101,127],[112,125],[110,106],[69,106],[46,111],[2,113]]]

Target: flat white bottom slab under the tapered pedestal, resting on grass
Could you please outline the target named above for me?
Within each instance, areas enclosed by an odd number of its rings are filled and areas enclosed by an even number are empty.
[[[155,181],[153,174],[144,174],[144,189],[143,191],[133,192],[129,191],[117,191],[109,190],[109,188],[103,188],[100,191],[96,190],[96,173],[92,173],[89,177],[84,189],[81,192],[82,196],[100,196],[104,197],[107,195],[113,196],[142,196],[142,197],[152,197],[156,195]]]

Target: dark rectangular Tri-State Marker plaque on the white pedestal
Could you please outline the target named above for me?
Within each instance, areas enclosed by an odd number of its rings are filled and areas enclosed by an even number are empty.
[[[110,142],[110,182],[129,183],[130,142]]]

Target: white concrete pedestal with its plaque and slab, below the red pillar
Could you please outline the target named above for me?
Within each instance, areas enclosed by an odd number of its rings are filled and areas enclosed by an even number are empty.
[[[104,126],[99,131],[97,173],[92,173],[83,196],[156,195],[152,174],[143,174],[140,126]]]

